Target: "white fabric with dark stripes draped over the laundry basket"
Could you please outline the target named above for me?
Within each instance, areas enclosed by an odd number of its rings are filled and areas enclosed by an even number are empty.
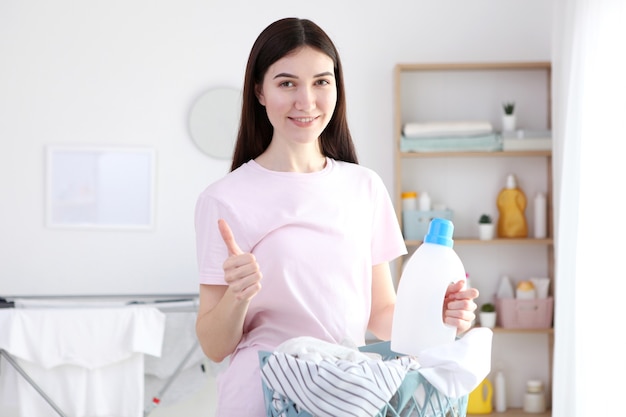
[[[411,369],[409,357],[389,361],[312,362],[275,352],[261,369],[275,392],[318,417],[370,417],[391,399]]]

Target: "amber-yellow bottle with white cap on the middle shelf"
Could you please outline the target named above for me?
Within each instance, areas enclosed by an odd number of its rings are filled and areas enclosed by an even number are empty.
[[[515,175],[509,174],[506,178],[506,187],[498,194],[498,236],[499,237],[527,237],[528,224],[526,223],[526,195],[517,187]]]

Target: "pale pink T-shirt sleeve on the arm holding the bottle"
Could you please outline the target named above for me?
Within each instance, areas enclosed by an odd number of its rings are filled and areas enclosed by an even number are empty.
[[[385,184],[377,175],[373,180],[372,262],[390,262],[407,253],[400,224]]]

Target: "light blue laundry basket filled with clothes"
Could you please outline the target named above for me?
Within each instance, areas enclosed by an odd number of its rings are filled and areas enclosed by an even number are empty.
[[[380,354],[384,360],[394,359],[389,342],[373,343],[359,348],[362,352]],[[263,367],[271,352],[259,352]],[[263,383],[267,417],[313,417],[289,398],[275,392]],[[394,396],[372,417],[465,417],[467,396],[450,398],[440,393],[418,371],[409,371]]]

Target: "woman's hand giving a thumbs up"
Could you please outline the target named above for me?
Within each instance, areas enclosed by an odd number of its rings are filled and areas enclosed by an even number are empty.
[[[233,232],[225,220],[217,225],[222,239],[228,248],[228,258],[224,261],[224,280],[228,290],[240,301],[250,301],[261,290],[263,275],[256,258],[251,253],[244,253],[235,241]]]

